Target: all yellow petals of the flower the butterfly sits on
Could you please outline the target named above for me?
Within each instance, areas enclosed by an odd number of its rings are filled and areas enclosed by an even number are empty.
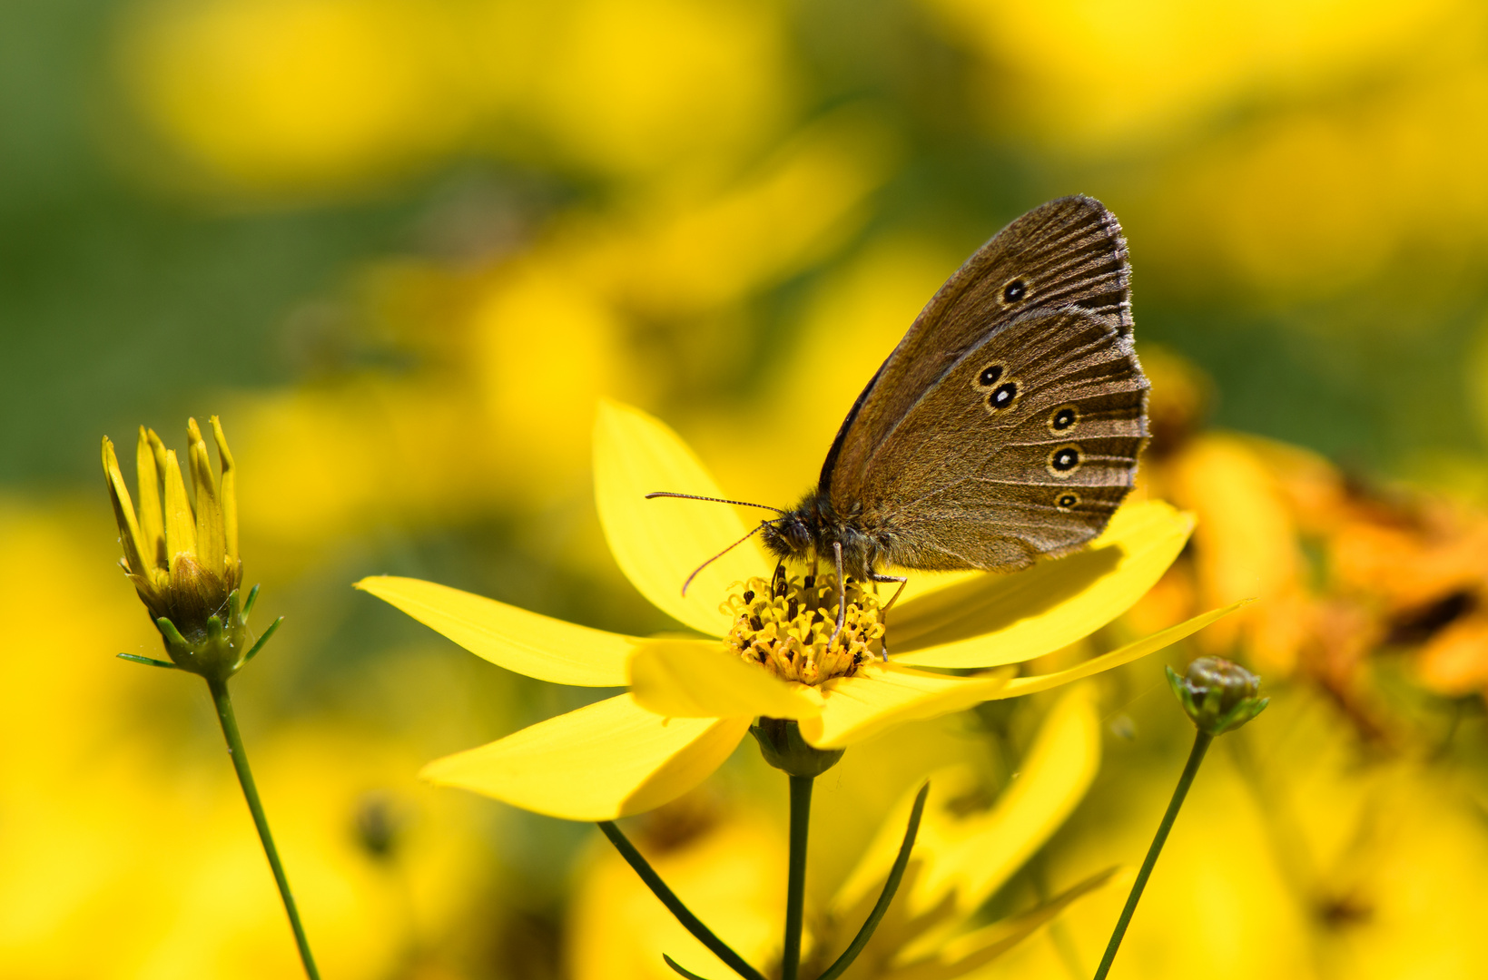
[[[549,718],[490,745],[436,760],[424,775],[551,816],[601,821],[686,793],[717,769],[757,718],[799,723],[818,749],[842,749],[902,721],[1031,694],[1128,663],[1187,636],[1214,610],[1074,668],[1012,677],[1010,665],[1059,650],[1129,608],[1187,541],[1192,519],[1162,503],[1123,509],[1088,550],[1015,576],[964,574],[894,608],[891,656],[817,686],[781,680],[720,639],[735,626],[723,599],[768,570],[737,547],[732,509],[646,500],[650,491],[722,497],[701,461],[659,421],[603,403],[595,427],[595,500],[610,550],[640,592],[707,638],[609,634],[430,581],[357,583],[466,650],[557,684],[629,692]],[[732,584],[731,584],[732,583]],[[918,668],[987,669],[957,677]]]

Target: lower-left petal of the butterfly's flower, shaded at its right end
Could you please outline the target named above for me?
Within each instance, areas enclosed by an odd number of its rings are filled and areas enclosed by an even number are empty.
[[[446,755],[424,778],[564,819],[655,809],[723,764],[748,718],[662,718],[629,694]]]

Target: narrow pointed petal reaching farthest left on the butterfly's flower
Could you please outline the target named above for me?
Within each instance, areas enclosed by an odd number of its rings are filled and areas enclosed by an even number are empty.
[[[634,636],[576,626],[420,578],[371,576],[357,589],[491,663],[554,684],[622,687]]]

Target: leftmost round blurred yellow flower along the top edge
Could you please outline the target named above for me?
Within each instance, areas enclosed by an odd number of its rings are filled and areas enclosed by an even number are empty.
[[[304,195],[452,147],[475,109],[461,42],[442,7],[409,0],[167,0],[126,22],[122,62],[147,120],[213,183]]]

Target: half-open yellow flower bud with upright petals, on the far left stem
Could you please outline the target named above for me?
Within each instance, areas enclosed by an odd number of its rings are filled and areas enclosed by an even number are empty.
[[[138,512],[107,436],[103,470],[119,522],[121,565],[161,629],[171,660],[198,674],[232,674],[247,651],[247,610],[240,613],[237,608],[243,580],[237,474],[216,415],[211,431],[220,476],[213,473],[196,419],[186,424],[195,507],[176,451],[167,449],[161,437],[143,425],[135,448]]]

